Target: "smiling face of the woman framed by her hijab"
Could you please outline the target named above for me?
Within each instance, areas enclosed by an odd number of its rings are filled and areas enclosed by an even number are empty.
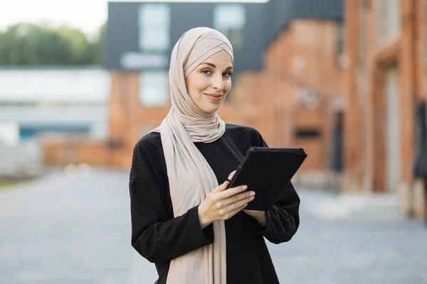
[[[194,104],[201,111],[218,111],[231,89],[233,62],[222,50],[196,67],[186,77],[186,88]]]

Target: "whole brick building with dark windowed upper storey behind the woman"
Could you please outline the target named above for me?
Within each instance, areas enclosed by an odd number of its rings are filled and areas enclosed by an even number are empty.
[[[221,117],[254,126],[270,146],[306,148],[304,173],[315,184],[325,181],[344,96],[342,11],[340,0],[110,1],[112,165],[128,168],[135,143],[167,115],[174,43],[190,28],[209,26],[228,36],[235,51],[233,89]]]

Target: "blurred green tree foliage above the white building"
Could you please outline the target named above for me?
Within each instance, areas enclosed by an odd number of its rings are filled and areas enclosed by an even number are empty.
[[[0,65],[99,65],[105,25],[97,40],[70,26],[18,23],[0,31]]]

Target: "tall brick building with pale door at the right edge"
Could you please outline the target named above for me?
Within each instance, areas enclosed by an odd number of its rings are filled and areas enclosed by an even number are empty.
[[[345,4],[343,189],[399,192],[406,214],[427,220],[426,185],[412,173],[414,110],[427,94],[427,2]]]

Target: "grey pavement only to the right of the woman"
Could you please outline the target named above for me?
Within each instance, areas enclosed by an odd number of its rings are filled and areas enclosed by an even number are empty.
[[[272,250],[281,283],[427,283],[427,228],[403,217],[396,196],[300,197],[299,231]]]

